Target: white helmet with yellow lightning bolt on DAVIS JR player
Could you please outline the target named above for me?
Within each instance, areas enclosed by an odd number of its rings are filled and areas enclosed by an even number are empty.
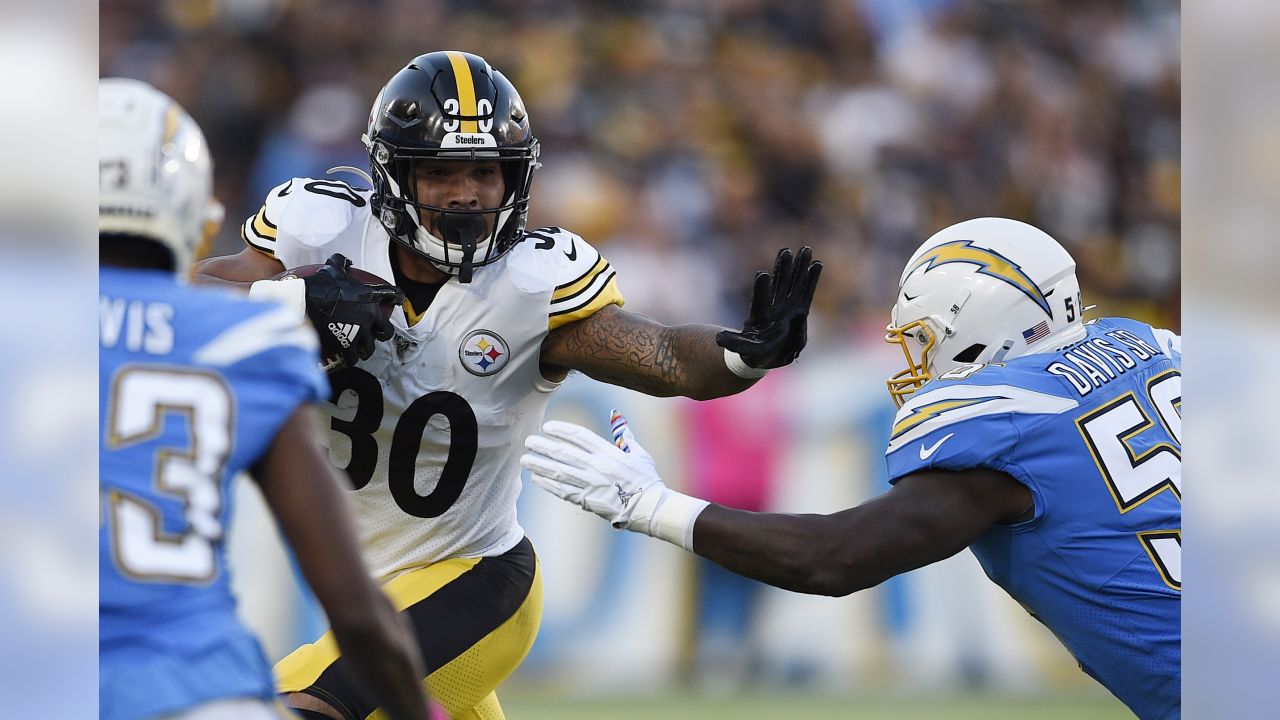
[[[1041,229],[978,218],[937,232],[899,282],[886,342],[908,368],[888,380],[893,402],[974,363],[1065,347],[1084,337],[1075,260]]]

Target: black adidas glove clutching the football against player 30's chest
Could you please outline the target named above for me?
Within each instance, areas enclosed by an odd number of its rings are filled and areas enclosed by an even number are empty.
[[[352,368],[374,354],[374,341],[392,338],[390,306],[404,301],[392,284],[367,284],[348,274],[351,260],[334,252],[306,275],[307,318],[320,336],[320,364],[326,370]]]

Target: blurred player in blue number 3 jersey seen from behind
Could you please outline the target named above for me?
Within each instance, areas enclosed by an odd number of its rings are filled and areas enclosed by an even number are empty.
[[[314,331],[284,305],[175,277],[221,219],[204,136],[143,82],[104,79],[99,97],[100,717],[284,716],[227,571],[242,470],[361,679],[392,716],[429,717],[419,650],[369,579],[316,439]]]

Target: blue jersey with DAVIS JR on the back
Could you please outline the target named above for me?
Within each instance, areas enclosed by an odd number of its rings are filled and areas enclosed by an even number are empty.
[[[920,388],[888,475],[991,468],[1025,484],[1034,515],[972,546],[987,577],[1139,717],[1179,717],[1181,341],[1121,318],[1085,329]]]

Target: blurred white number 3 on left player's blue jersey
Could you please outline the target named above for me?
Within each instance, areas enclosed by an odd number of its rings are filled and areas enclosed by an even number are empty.
[[[230,452],[234,414],[225,380],[174,368],[123,368],[111,383],[108,447],[154,439],[169,414],[186,415],[189,442],[156,451],[151,495],[182,500],[186,528],[166,532],[164,512],[155,502],[114,489],[106,509],[111,555],[120,571],[136,580],[209,582],[218,571],[215,543],[223,537],[219,482]]]

